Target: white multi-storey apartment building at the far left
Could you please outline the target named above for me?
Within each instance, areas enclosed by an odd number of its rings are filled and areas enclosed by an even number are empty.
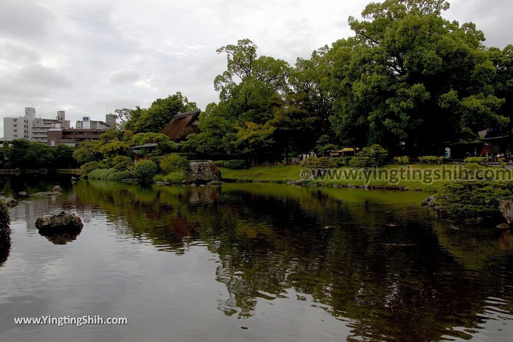
[[[36,118],[35,108],[25,107],[25,116],[4,118],[4,140],[28,139],[31,141],[48,142],[48,129],[69,128],[64,111],[58,111],[55,119]]]

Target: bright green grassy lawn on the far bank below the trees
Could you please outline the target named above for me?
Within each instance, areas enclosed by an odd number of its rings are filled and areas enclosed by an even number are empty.
[[[458,168],[460,165],[385,165],[382,168],[387,169],[388,171],[392,169],[398,169],[399,167],[410,167],[412,172],[422,172],[423,175],[426,173],[429,175],[430,172],[438,172],[442,173],[443,167],[445,168]],[[231,170],[227,168],[220,168],[221,173],[223,175],[223,179],[228,181],[269,181],[269,182],[277,182],[284,183],[287,181],[297,181],[301,179],[301,170],[303,166],[293,165],[293,166],[258,166],[258,167],[250,167],[248,169],[243,170]],[[340,168],[338,170],[349,170],[349,168]],[[312,181],[315,182],[315,181]],[[368,183],[364,180],[325,180],[324,184],[337,184],[337,185],[356,185],[362,186],[368,184],[370,186],[398,186],[398,187],[407,187],[410,190],[414,188],[418,188],[425,191],[436,191],[445,181],[432,181],[432,182],[422,182],[420,180],[399,180],[398,182],[390,183],[388,181],[382,180],[370,180]]]

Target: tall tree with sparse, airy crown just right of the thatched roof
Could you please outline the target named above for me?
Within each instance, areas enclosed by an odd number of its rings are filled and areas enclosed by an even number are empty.
[[[270,132],[269,121],[274,118],[278,104],[274,99],[288,92],[290,67],[284,60],[258,56],[257,45],[249,39],[223,46],[217,52],[227,56],[227,70],[214,80],[220,102],[207,106],[200,117],[202,133],[191,136],[192,141],[185,147],[212,151],[212,143],[216,142],[217,152],[234,149],[247,154],[252,144],[247,139],[241,142],[240,138],[249,133],[248,127],[257,136]],[[257,132],[259,129],[263,132]],[[201,146],[202,143],[208,146]]]

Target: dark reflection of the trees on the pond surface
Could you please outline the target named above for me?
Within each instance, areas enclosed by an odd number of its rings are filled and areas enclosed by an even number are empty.
[[[510,236],[469,228],[455,239],[450,224],[426,219],[417,204],[384,204],[390,194],[379,191],[79,182],[76,196],[79,210],[97,207],[160,249],[206,242],[221,260],[215,276],[229,297],[218,308],[227,315],[249,317],[259,298],[294,289],[348,319],[349,339],[468,338],[450,327],[475,329],[487,297],[513,297],[511,258],[501,257]],[[469,243],[486,248],[471,253]]]

